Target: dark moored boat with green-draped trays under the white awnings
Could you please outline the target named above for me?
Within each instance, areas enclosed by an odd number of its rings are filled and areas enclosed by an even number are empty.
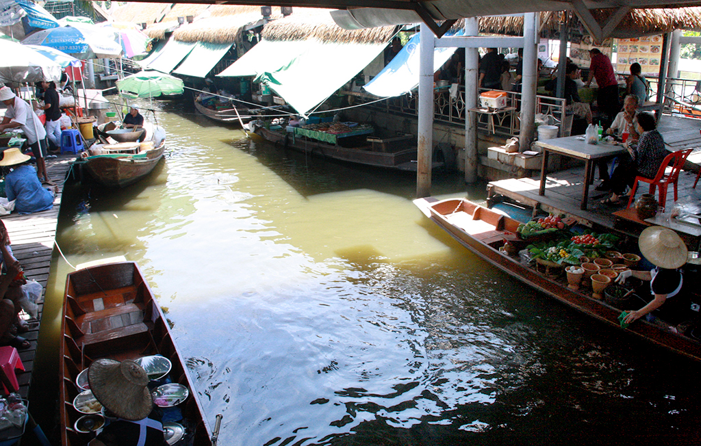
[[[376,137],[372,129],[356,130],[344,134],[322,134],[315,130],[297,129],[280,125],[264,125],[259,120],[247,124],[249,130],[283,148],[292,148],[309,155],[332,160],[384,169],[416,172],[416,137],[411,134]],[[451,148],[448,148],[452,151]],[[439,158],[449,158],[452,153],[433,157],[433,169],[444,166]]]

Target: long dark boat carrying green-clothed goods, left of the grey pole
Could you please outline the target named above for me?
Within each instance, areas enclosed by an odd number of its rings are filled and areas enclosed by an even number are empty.
[[[346,146],[338,142],[329,144],[324,141],[295,136],[294,133],[287,132],[284,127],[271,129],[264,125],[258,125],[257,121],[251,121],[247,127],[259,137],[270,141],[276,146],[291,148],[308,155],[352,162],[359,165],[381,167],[383,169],[416,172],[418,153],[414,135],[403,135],[386,139],[374,139],[368,137],[368,135],[357,135],[349,137],[348,140],[355,138],[355,142],[360,140],[359,144],[352,144],[352,141],[348,141],[348,146]],[[440,169],[444,166],[444,162],[437,161],[435,158],[432,167],[433,169]]]

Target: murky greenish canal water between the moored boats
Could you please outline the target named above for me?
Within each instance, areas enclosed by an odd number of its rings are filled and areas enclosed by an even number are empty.
[[[220,445],[697,440],[698,365],[479,260],[414,207],[413,175],[154,107],[165,162],[121,191],[67,184],[57,242],[72,265],[139,263],[207,419],[224,415]],[[432,190],[485,195],[460,174],[435,174]],[[34,377],[43,407],[70,270],[55,256]]]

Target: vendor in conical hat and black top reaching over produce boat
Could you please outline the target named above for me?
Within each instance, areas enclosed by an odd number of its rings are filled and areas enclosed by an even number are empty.
[[[651,271],[623,271],[616,281],[624,284],[628,277],[649,281],[649,290],[654,298],[640,309],[627,310],[623,321],[632,323],[652,312],[675,326],[690,319],[691,302],[685,293],[681,271],[688,254],[686,244],[673,230],[651,226],[641,232],[638,246],[642,255],[655,267]]]

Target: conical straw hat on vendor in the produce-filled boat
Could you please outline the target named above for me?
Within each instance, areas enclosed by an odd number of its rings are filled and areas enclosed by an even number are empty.
[[[660,268],[674,270],[686,263],[686,244],[671,229],[662,226],[646,228],[640,234],[638,246],[643,256]]]

